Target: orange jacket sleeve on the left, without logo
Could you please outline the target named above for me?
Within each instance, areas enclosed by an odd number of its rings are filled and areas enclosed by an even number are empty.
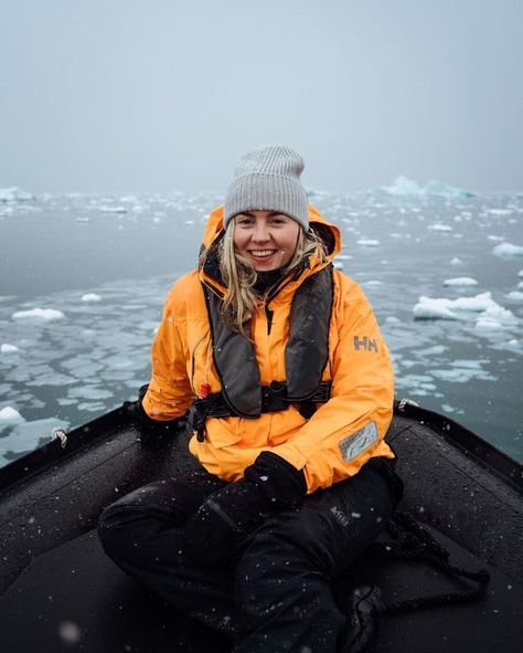
[[[146,414],[153,420],[178,419],[192,403],[193,392],[186,371],[185,328],[183,301],[179,298],[174,285],[152,343],[152,376],[142,400]]]

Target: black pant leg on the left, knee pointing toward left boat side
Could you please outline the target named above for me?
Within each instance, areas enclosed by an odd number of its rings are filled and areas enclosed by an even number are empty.
[[[224,485],[205,471],[140,487],[107,507],[98,534],[124,571],[185,614],[231,634],[236,628],[234,569],[210,569],[186,552],[183,525]]]

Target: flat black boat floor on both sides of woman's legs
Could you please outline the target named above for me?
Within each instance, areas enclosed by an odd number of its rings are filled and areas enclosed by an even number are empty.
[[[433,535],[455,565],[484,567],[441,534]],[[364,556],[354,582],[378,581],[385,600],[462,588],[425,564]],[[493,569],[488,597],[474,603],[433,608],[382,620],[376,653],[512,653],[523,650],[523,589]],[[89,531],[33,560],[0,599],[2,653],[44,650],[87,653],[225,653],[231,642],[188,619],[129,579]]]

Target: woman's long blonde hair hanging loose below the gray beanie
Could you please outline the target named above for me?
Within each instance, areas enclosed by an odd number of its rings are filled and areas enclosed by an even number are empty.
[[[234,229],[235,220],[233,219],[227,224],[225,233],[217,246],[220,273],[226,287],[222,304],[222,318],[231,328],[249,338],[245,328],[246,324],[253,316],[256,305],[259,304],[260,299],[265,301],[271,288],[269,287],[262,298],[254,289],[257,281],[256,270],[234,249]],[[210,250],[211,247],[207,247],[203,252],[200,267],[205,264]],[[314,252],[318,253],[320,262],[327,260],[323,241],[313,230],[305,231],[300,228],[295,253],[284,270],[284,276],[287,276]]]

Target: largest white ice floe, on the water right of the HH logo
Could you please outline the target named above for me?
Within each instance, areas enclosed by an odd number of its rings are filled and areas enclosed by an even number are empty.
[[[457,299],[419,297],[413,308],[416,319],[466,319],[478,313],[476,325],[480,328],[502,328],[517,324],[514,314],[492,299],[491,293]]]

